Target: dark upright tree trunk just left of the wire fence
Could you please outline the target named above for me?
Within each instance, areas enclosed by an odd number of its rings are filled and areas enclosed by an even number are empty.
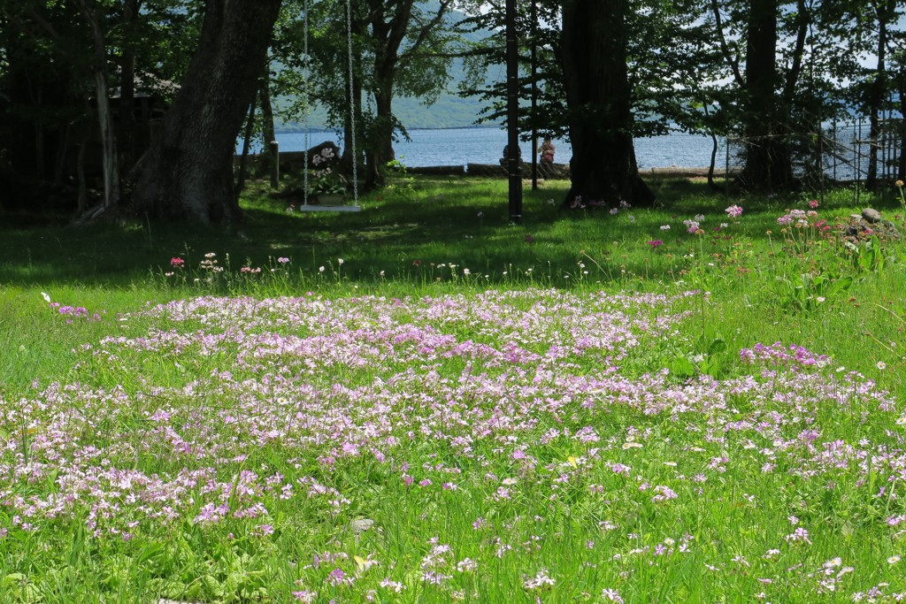
[[[778,110],[778,0],[751,0],[746,45],[746,186],[785,188],[793,179],[786,119]]]

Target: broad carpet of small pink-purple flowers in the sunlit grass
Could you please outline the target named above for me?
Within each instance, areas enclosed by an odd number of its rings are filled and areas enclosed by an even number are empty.
[[[0,539],[50,542],[83,523],[99,542],[191,526],[266,543],[304,513],[323,531],[305,547],[333,551],[294,567],[298,601],[458,594],[493,580],[486,561],[515,565],[516,589],[535,599],[571,580],[545,566],[549,543],[588,524],[574,555],[583,568],[612,567],[594,589],[619,602],[640,593],[625,580],[638,568],[773,564],[779,554],[713,546],[747,531],[777,552],[817,548],[824,515],[796,507],[795,526],[767,532],[773,508],[745,491],[754,484],[789,484],[811,510],[808,497],[837,496],[830,484],[872,502],[906,480],[906,452],[885,431],[896,400],[824,355],[778,342],[740,352],[754,375],[681,380],[660,369],[651,350],[684,337],[678,309],[690,295],[205,297],[149,308],[124,317],[148,331],[83,346],[72,382],[0,399],[0,426],[23,427],[0,439]],[[92,383],[151,363],[165,368],[157,378]],[[834,413],[857,417],[864,437],[838,436]],[[351,484],[362,468],[365,484]],[[339,551],[342,527],[368,513],[361,502],[374,492],[415,502],[411,522],[471,514],[458,522],[472,530],[410,544],[400,560]],[[717,499],[739,523],[731,532],[696,522]],[[906,511],[885,501],[853,508],[863,516],[849,522],[893,539]],[[653,529],[642,516],[668,520]],[[369,578],[375,567],[384,579]],[[814,587],[814,569],[776,572]]]

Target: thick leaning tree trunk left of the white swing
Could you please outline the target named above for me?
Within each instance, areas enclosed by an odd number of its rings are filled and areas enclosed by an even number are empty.
[[[281,0],[207,0],[198,50],[142,162],[133,202],[201,223],[239,216],[236,135],[257,92]]]

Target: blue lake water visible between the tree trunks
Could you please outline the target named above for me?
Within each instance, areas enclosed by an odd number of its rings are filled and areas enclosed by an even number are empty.
[[[496,164],[506,146],[506,130],[496,128],[412,129],[410,140],[400,139],[393,145],[397,159],[412,168],[423,166],[465,166],[466,164]],[[303,151],[305,134],[278,132],[281,151]],[[333,131],[311,132],[308,149],[333,140],[340,143]],[[554,139],[557,163],[568,163],[573,149],[564,140]],[[667,136],[637,139],[635,153],[639,168],[707,168],[711,161],[711,139],[707,136],[674,132]],[[522,143],[522,157],[532,157],[531,144]],[[722,166],[723,148],[718,149],[718,167]]]

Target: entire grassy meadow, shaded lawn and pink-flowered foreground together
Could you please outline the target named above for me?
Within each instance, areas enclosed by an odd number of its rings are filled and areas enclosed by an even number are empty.
[[[12,216],[0,603],[906,599],[901,189],[653,186]]]

